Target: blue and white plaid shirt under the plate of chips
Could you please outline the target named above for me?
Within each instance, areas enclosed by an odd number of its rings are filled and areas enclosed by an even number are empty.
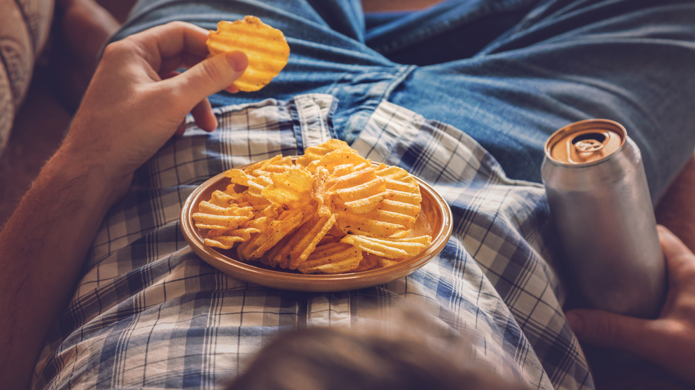
[[[438,257],[382,286],[297,293],[241,282],[191,252],[179,213],[196,186],[322,143],[335,109],[329,95],[228,106],[216,112],[218,131],[190,123],[165,145],[99,229],[33,389],[217,389],[279,330],[355,326],[366,307],[403,301],[472,334],[477,357],[532,389],[594,388],[548,261],[543,188],[507,179],[465,133],[388,102],[359,113],[370,117],[352,147],[406,168],[447,200],[453,234]]]

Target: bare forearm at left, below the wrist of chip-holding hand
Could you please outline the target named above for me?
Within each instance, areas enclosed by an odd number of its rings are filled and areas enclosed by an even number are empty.
[[[113,196],[95,165],[65,148],[0,232],[0,383],[26,389]]]

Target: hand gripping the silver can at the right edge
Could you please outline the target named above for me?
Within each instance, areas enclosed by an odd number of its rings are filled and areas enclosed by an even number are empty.
[[[566,316],[581,341],[634,353],[695,385],[695,254],[665,227],[658,230],[669,270],[669,293],[659,318],[589,309]]]

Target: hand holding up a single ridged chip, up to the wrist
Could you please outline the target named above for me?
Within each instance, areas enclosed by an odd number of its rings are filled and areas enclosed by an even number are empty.
[[[172,22],[109,44],[62,148],[98,164],[122,193],[133,171],[174,133],[183,133],[188,113],[200,128],[215,129],[207,97],[236,92],[230,86],[247,58],[238,51],[206,58],[207,35],[193,24]],[[189,69],[177,74],[179,67]]]

